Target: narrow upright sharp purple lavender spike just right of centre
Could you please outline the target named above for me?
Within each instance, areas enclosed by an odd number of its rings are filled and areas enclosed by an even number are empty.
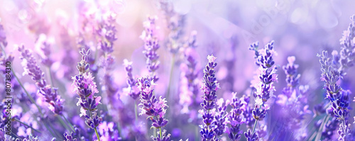
[[[208,55],[208,64],[204,69],[204,77],[202,84],[202,91],[204,95],[202,96],[203,102],[201,103],[202,110],[199,112],[202,114],[204,125],[200,125],[202,130],[200,130],[200,134],[202,140],[217,140],[217,133],[215,132],[216,126],[212,125],[215,118],[215,106],[216,106],[216,91],[219,88],[219,83],[217,82],[217,78],[215,77],[216,71],[214,70],[217,67],[216,57],[213,55]]]

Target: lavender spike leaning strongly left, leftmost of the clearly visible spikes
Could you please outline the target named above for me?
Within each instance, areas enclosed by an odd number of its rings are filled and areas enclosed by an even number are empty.
[[[43,96],[44,101],[49,104],[49,109],[55,114],[62,115],[63,106],[62,99],[58,95],[58,89],[52,88],[50,85],[46,85],[44,79],[44,73],[38,66],[35,57],[33,57],[30,50],[22,47],[18,47],[18,51],[21,52],[21,60],[23,60],[23,67],[25,69],[25,74],[28,74],[35,81],[35,85],[39,89],[39,93]]]

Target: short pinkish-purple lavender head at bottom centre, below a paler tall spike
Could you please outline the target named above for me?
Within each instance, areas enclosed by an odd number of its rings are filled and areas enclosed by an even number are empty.
[[[164,118],[164,115],[166,113],[165,107],[167,107],[165,98],[162,98],[162,96],[160,96],[158,99],[153,95],[154,86],[156,84],[154,83],[154,80],[149,77],[139,78],[137,85],[139,91],[141,91],[141,103],[139,103],[138,106],[142,107],[141,113],[139,115],[148,115],[148,118],[151,119],[151,121],[153,122],[152,128],[160,130],[160,139],[162,140],[165,134],[161,132],[161,128],[165,127],[165,125],[168,124],[168,120]]]

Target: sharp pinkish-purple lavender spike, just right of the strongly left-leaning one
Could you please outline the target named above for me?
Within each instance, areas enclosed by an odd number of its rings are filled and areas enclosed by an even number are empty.
[[[89,63],[87,62],[87,55],[90,54],[90,50],[82,49],[80,51],[82,60],[77,64],[79,74],[72,77],[72,86],[74,91],[80,96],[77,106],[80,108],[80,116],[85,117],[85,123],[89,128],[95,130],[97,139],[100,141],[99,134],[97,132],[97,126],[102,122],[102,118],[97,115],[97,105],[100,103],[101,97],[94,96],[98,93],[96,83],[93,81],[92,73],[89,72]],[[89,115],[87,115],[87,112]]]

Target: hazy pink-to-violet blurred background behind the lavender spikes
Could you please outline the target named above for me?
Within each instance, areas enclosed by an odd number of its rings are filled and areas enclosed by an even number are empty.
[[[33,52],[38,52],[34,55],[40,58],[43,54],[40,53],[36,41],[40,37],[45,37],[51,45],[51,58],[54,63],[50,69],[55,79],[58,79],[55,84],[67,88],[67,91],[60,91],[62,97],[66,99],[65,107],[73,108],[66,114],[74,116],[79,112],[79,108],[70,103],[76,101],[75,94],[70,91],[70,77],[76,73],[75,66],[80,61],[78,53],[80,47],[77,46],[77,40],[84,38],[92,50],[97,51],[97,41],[94,40],[93,35],[95,22],[104,20],[103,17],[107,13],[113,14],[118,39],[114,42],[112,55],[115,57],[115,65],[111,75],[119,86],[118,96],[123,105],[132,106],[133,100],[123,91],[126,87],[123,60],[133,62],[133,74],[137,76],[148,74],[145,66],[146,58],[142,53],[143,40],[139,36],[144,30],[143,21],[146,21],[148,16],[158,16],[156,33],[160,40],[160,49],[158,49],[160,79],[155,94],[165,96],[167,91],[170,91],[171,98],[168,100],[179,101],[180,64],[183,62],[183,55],[178,53],[174,55],[168,47],[170,26],[175,24],[181,30],[179,40],[189,40],[191,34],[197,33],[196,60],[197,68],[201,72],[207,64],[207,55],[213,54],[217,57],[219,63],[217,79],[222,88],[218,91],[218,96],[227,99],[231,98],[233,91],[238,92],[239,96],[251,93],[250,81],[257,67],[249,45],[259,41],[263,47],[271,40],[275,40],[275,51],[278,55],[274,59],[275,64],[280,68],[278,83],[275,84],[276,93],[281,93],[286,86],[282,66],[287,64],[288,56],[295,56],[295,63],[300,65],[298,72],[302,75],[300,84],[309,85],[309,94],[315,97],[308,99],[312,109],[313,106],[324,101],[325,97],[322,90],[323,82],[320,81],[320,63],[316,55],[322,50],[332,52],[340,49],[339,39],[349,26],[351,15],[355,13],[355,1],[351,0],[176,0],[168,3],[175,14],[173,16],[167,14],[160,1],[1,0],[0,24],[4,26],[8,42],[5,50],[15,56],[13,67],[21,76],[23,84],[29,91],[35,92],[35,89],[31,89],[31,85],[34,85],[31,78],[21,75],[23,67],[16,45],[23,44]],[[68,55],[72,57],[70,60],[74,70],[72,73],[66,72],[70,68],[62,66],[63,58]],[[173,57],[175,60],[172,59]],[[172,62],[174,62],[173,67],[171,67]],[[353,70],[354,68],[349,69],[345,79],[351,91],[355,90],[352,82],[355,74],[351,73]],[[47,75],[45,77],[49,79]],[[200,77],[202,79],[202,75]],[[170,90],[167,90],[168,84]],[[181,106],[168,108],[168,113],[174,113],[176,116],[168,116],[170,123],[166,129],[175,140],[198,139],[195,130],[192,132],[184,130],[195,125],[187,125],[189,122],[174,123],[176,118],[189,116],[182,114],[180,109]],[[353,115],[354,111],[351,111],[350,117]],[[133,108],[129,108],[127,116],[134,116]],[[143,116],[140,118],[145,119]],[[353,123],[352,118],[349,123]],[[152,132],[147,130],[143,132]],[[128,133],[126,134],[129,136]]]

